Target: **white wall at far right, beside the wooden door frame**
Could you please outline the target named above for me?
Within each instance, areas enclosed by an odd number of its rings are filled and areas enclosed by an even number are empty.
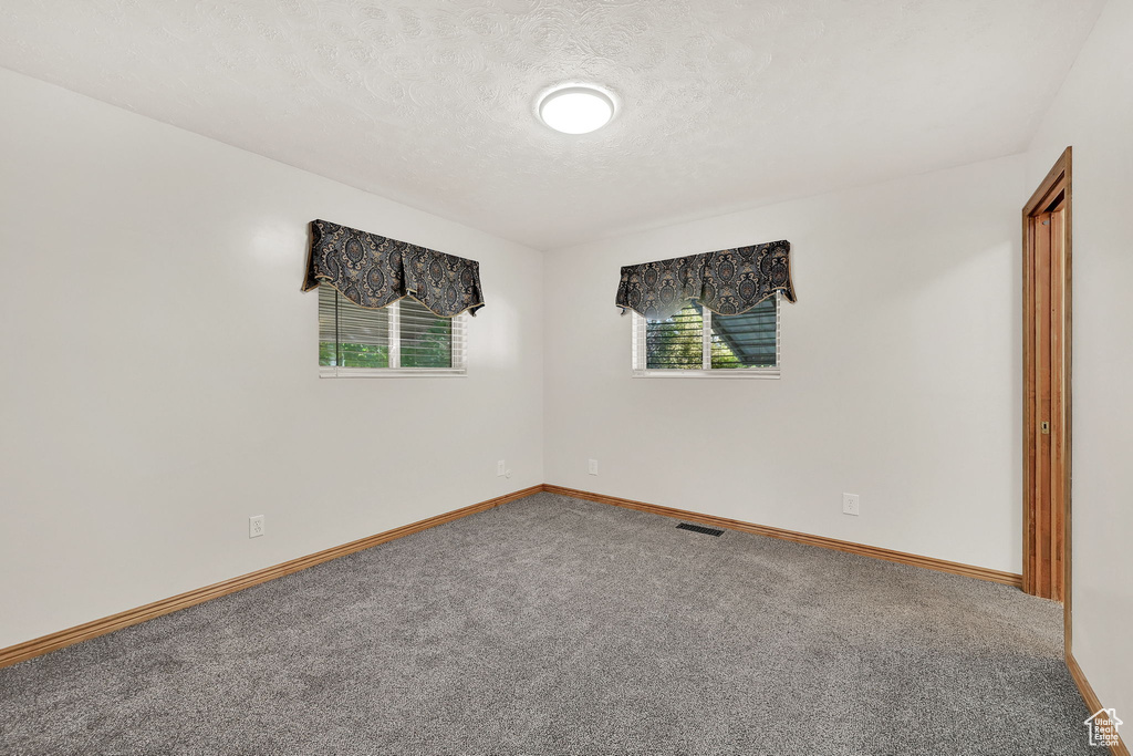
[[[1074,147],[1074,657],[1133,721],[1133,1],[1109,0],[1028,155]],[[1125,742],[1131,742],[1126,725]]]

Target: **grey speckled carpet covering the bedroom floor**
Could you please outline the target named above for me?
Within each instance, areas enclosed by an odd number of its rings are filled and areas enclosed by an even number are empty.
[[[1098,753],[1056,604],[551,494],[0,670],[0,753]]]

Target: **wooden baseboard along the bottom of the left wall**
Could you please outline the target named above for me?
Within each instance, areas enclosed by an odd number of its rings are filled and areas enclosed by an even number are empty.
[[[255,572],[248,572],[247,575],[222,580],[221,583],[214,583],[213,585],[205,586],[204,588],[181,593],[176,596],[170,596],[169,598],[155,601],[144,606],[128,609],[125,612],[119,612],[117,614],[111,614],[110,617],[103,617],[99,620],[77,625],[66,630],[33,638],[32,640],[26,640],[24,643],[16,644],[15,646],[0,648],[0,669],[35,656],[41,656],[58,648],[82,643],[83,640],[97,638],[100,635],[105,635],[113,630],[120,630],[131,625],[139,625],[140,622],[162,617],[163,614],[170,614],[181,609],[188,609],[189,606],[195,606],[196,604],[204,603],[211,598],[227,596],[230,593],[244,591],[245,588],[250,588],[252,586],[259,585],[261,583],[267,583],[269,580],[281,578],[284,575],[291,575],[292,572],[305,570],[308,567],[322,564],[323,562],[329,562],[332,559],[346,557],[347,554],[352,554],[387,541],[412,535],[414,533],[420,533],[421,530],[427,530],[431,527],[451,523],[452,520],[460,519],[461,517],[468,517],[469,515],[483,512],[484,510],[492,509],[493,507],[499,507],[500,504],[505,504],[509,501],[516,501],[517,499],[523,499],[525,496],[530,496],[539,493],[540,491],[543,491],[542,485],[533,485],[529,489],[514,491],[502,496],[496,496],[495,499],[482,501],[477,504],[454,509],[451,512],[444,512],[443,515],[437,515],[417,523],[403,525],[399,528],[393,528],[392,530],[359,538],[358,541],[351,541],[350,543],[333,546],[306,557],[299,557],[298,559],[283,562],[282,564],[275,564],[262,570],[256,570]]]

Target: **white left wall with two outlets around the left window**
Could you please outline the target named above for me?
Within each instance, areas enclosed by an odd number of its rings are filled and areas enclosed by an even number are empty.
[[[10,71],[0,100],[0,647],[543,482],[540,255]],[[318,379],[315,218],[480,261],[467,379]]]

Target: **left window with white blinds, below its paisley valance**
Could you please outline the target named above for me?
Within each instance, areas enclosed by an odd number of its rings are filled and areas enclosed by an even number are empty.
[[[465,374],[465,318],[434,315],[406,297],[381,309],[318,284],[318,373],[323,377]]]

